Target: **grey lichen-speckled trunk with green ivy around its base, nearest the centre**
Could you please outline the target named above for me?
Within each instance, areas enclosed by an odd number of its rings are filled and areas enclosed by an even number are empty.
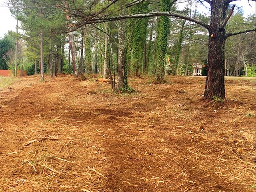
[[[119,21],[118,26],[118,84],[117,88],[128,90],[128,74],[125,59],[125,20]]]

